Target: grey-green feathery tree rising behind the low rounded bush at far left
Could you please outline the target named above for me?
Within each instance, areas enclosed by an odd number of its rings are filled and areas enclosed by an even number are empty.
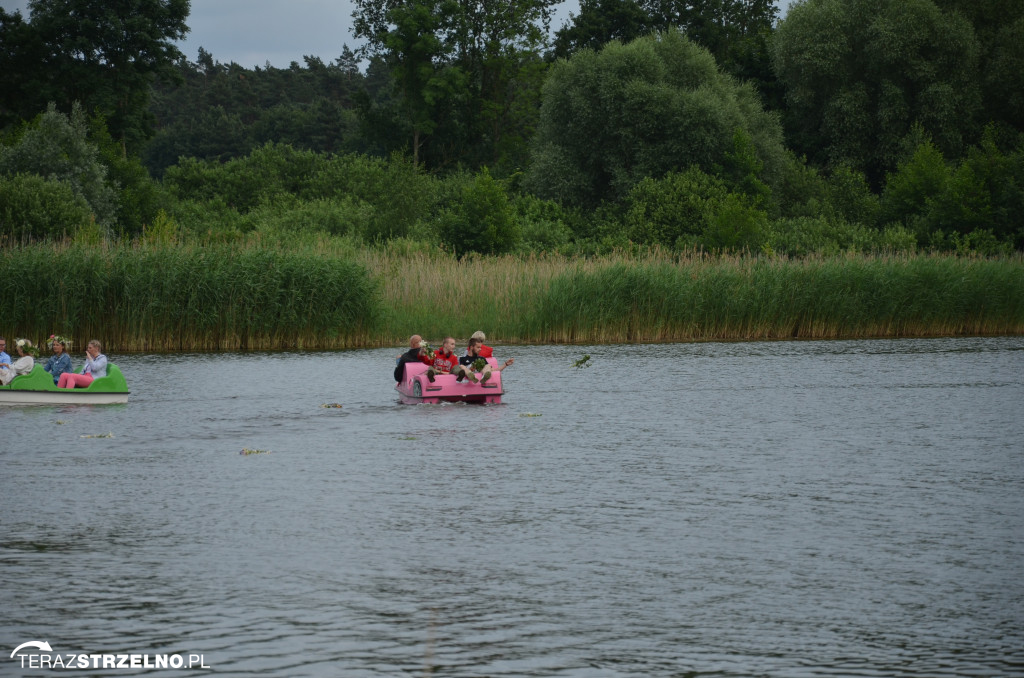
[[[25,126],[13,143],[0,145],[0,175],[14,174],[38,174],[67,183],[85,199],[97,223],[114,225],[118,186],[108,179],[99,152],[88,139],[81,108],[76,105],[68,117],[51,104]]]

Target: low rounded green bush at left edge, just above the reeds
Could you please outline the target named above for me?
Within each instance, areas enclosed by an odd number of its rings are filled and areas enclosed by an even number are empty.
[[[92,210],[65,181],[0,175],[0,247],[60,239],[92,222]]]

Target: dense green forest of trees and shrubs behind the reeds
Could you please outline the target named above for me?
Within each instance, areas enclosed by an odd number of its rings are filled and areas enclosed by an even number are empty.
[[[0,243],[1024,249],[1024,4],[557,4],[358,0],[255,69],[187,0],[0,10]]]

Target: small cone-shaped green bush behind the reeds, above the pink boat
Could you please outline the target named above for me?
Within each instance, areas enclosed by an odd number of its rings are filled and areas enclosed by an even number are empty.
[[[510,252],[521,238],[505,186],[486,168],[466,185],[443,223],[441,237],[459,256]]]

